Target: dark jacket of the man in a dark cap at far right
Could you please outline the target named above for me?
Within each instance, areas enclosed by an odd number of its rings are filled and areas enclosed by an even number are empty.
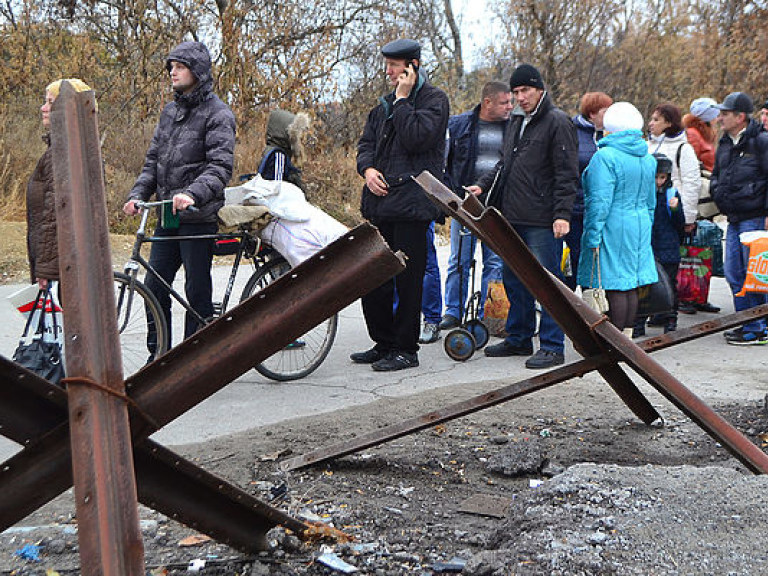
[[[768,215],[768,133],[750,120],[738,144],[728,134],[720,138],[710,193],[728,216],[741,222]]]

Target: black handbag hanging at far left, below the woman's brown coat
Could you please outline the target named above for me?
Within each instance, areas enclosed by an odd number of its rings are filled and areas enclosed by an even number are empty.
[[[47,302],[51,303],[50,308],[46,306]],[[32,319],[35,317],[37,310],[40,311],[37,315],[37,327],[35,332],[30,334]],[[61,379],[64,378],[64,358],[61,353],[61,344],[43,340],[46,314],[52,316],[54,334],[58,334],[59,326],[56,320],[50,288],[38,292],[35,305],[29,311],[29,318],[27,318],[24,333],[21,336],[19,345],[16,347],[16,351],[13,353],[13,361],[49,382],[59,384]],[[28,341],[30,336],[32,340]]]

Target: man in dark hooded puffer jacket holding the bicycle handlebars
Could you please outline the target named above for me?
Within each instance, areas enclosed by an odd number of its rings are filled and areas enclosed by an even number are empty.
[[[212,91],[211,56],[200,42],[183,42],[166,59],[174,101],[163,108],[144,168],[128,194],[123,211],[138,212],[135,201],[172,201],[176,226],[158,226],[156,236],[197,236],[216,232],[216,213],[224,205],[224,187],[232,177],[235,148],[235,116]],[[190,207],[194,209],[190,210]],[[149,262],[169,284],[184,266],[184,290],[187,300],[203,318],[213,315],[211,240],[155,242]],[[168,327],[171,327],[171,298],[168,291],[152,275],[147,287],[157,297]],[[187,314],[184,337],[200,328]],[[169,332],[170,339],[170,332]],[[169,341],[169,345],[171,342]],[[151,333],[147,339],[150,360],[156,342]]]

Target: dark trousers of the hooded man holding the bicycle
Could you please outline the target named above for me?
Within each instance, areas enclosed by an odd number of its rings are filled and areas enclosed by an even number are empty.
[[[218,226],[215,222],[201,224],[180,224],[177,229],[157,228],[155,236],[196,236],[215,234]],[[213,316],[213,281],[211,264],[213,263],[213,240],[184,240],[154,242],[149,254],[149,263],[168,284],[173,283],[176,272],[184,266],[184,293],[190,306],[203,318]],[[157,297],[160,308],[168,322],[168,343],[171,339],[171,296],[160,282],[147,274],[146,285]],[[187,313],[184,322],[184,338],[189,338],[202,328],[194,316]],[[147,347],[154,353],[152,330],[147,338]]]

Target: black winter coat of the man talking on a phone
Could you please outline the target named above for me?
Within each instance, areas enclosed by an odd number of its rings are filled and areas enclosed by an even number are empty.
[[[363,186],[361,212],[373,224],[436,220],[440,210],[411,177],[429,170],[443,179],[448,97],[422,75],[408,98],[394,100],[394,93],[380,99],[357,145],[358,173],[375,168],[389,184],[386,196],[374,196]]]

